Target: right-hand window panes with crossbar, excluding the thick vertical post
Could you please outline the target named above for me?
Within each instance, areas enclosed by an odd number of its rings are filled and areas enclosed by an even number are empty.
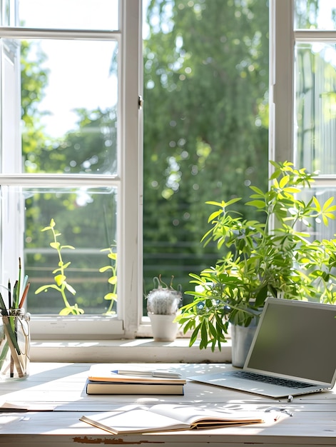
[[[336,193],[336,7],[326,0],[307,11],[295,3],[295,160],[320,171],[316,194]],[[335,226],[322,236],[333,238]]]

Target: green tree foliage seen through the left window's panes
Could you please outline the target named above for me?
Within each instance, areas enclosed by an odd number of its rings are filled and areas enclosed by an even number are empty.
[[[24,169],[29,173],[91,174],[116,171],[116,110],[78,109],[76,129],[63,138],[51,139],[46,134],[41,100],[48,85],[46,54],[37,44],[21,43],[22,148]],[[76,247],[66,253],[71,266],[69,281],[76,286],[76,303],[86,313],[112,313],[113,302],[104,296],[115,288],[108,283],[108,273],[101,249],[111,247],[116,238],[116,190],[88,188],[32,188],[24,190],[26,273],[32,288],[38,290],[53,280],[52,270],[57,259],[49,250],[49,238],[41,232],[52,219],[57,220],[66,245]],[[97,237],[101,235],[102,237]],[[67,249],[65,249],[66,251]],[[75,306],[72,296],[69,308]],[[34,313],[58,313],[64,306],[56,289],[29,296]]]

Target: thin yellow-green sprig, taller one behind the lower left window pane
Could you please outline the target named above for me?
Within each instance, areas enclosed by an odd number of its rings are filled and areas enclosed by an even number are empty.
[[[56,291],[61,293],[61,297],[63,298],[64,307],[59,312],[59,315],[69,315],[72,313],[73,315],[79,315],[81,313],[84,313],[83,309],[78,307],[78,304],[75,303],[74,305],[71,305],[68,302],[68,299],[66,298],[66,291],[72,293],[73,295],[76,294],[75,289],[66,281],[66,268],[71,264],[70,262],[64,263],[62,258],[62,251],[64,248],[69,248],[71,250],[74,250],[75,248],[71,245],[61,245],[61,243],[58,241],[58,237],[61,236],[61,233],[59,233],[56,230],[56,224],[54,219],[51,219],[49,226],[46,226],[41,231],[51,231],[53,236],[53,241],[50,243],[51,248],[54,248],[56,250],[58,255],[58,267],[52,272],[54,274],[54,281],[53,284],[46,284],[45,286],[39,287],[35,293],[41,293],[42,291],[46,292],[49,290],[49,288],[54,288]]]

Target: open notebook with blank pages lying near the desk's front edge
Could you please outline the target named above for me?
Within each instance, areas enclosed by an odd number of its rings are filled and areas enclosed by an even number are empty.
[[[213,411],[175,403],[161,403],[151,408],[129,411],[108,411],[81,421],[109,433],[151,433],[159,431],[195,430],[263,423],[277,417],[263,411]]]

